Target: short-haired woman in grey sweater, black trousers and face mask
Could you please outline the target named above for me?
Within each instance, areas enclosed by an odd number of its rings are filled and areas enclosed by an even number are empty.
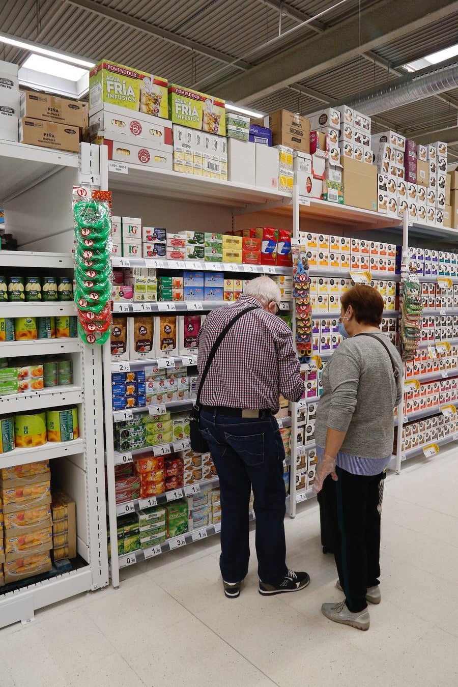
[[[380,602],[382,479],[393,451],[393,408],[402,397],[402,361],[380,331],[384,302],[358,284],[341,297],[343,341],[323,372],[317,408],[317,473],[332,550],[345,599],[324,615],[369,629],[367,601]]]

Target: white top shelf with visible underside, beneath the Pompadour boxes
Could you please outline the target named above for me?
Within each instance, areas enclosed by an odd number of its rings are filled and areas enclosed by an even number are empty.
[[[108,164],[110,190],[226,207],[243,207],[253,204],[257,206],[258,212],[262,212],[262,205],[266,203],[275,202],[279,205],[291,203],[290,195],[268,188],[207,179],[196,177],[194,174],[180,174],[172,170],[159,170],[135,164],[126,164],[126,168],[127,174],[119,174],[110,170]]]

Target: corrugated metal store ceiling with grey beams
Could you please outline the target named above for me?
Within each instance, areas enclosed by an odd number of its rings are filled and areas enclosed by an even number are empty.
[[[0,27],[254,109],[307,114],[386,87],[405,76],[402,65],[457,44],[458,2],[3,0]],[[21,64],[27,55],[0,45],[2,59]],[[458,160],[458,89],[374,120],[374,131],[445,137]]]

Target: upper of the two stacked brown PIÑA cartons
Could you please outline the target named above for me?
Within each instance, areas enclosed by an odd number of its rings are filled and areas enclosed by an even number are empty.
[[[56,124],[70,124],[87,128],[89,126],[86,102],[65,100],[47,93],[21,93],[21,117],[46,120]]]

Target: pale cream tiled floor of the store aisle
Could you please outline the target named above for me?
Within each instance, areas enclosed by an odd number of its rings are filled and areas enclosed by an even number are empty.
[[[126,569],[119,590],[0,631],[0,686],[456,687],[457,495],[457,449],[388,478],[382,603],[369,607],[369,632],[321,615],[321,603],[341,593],[313,500],[285,521],[288,565],[312,578],[303,592],[262,598],[252,555],[242,596],[227,600],[213,537]]]

